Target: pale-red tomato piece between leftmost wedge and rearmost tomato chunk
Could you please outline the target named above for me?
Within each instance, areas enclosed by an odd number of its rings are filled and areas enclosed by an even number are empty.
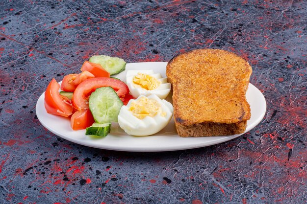
[[[68,74],[64,76],[61,90],[74,92],[77,86],[86,79],[94,78],[95,76],[89,71],[83,71],[79,74]]]

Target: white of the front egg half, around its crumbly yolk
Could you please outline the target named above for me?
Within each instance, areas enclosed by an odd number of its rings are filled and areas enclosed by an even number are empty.
[[[141,97],[153,98],[161,106],[162,112],[165,112],[165,116],[161,116],[157,113],[154,117],[146,116],[143,119],[139,119],[134,116],[129,108],[133,101],[140,99]],[[160,130],[162,130],[171,120],[173,116],[173,106],[166,100],[161,100],[158,96],[152,94],[150,96],[140,95],[135,100],[130,100],[127,106],[122,106],[118,115],[119,126],[128,134],[132,136],[150,136]]]

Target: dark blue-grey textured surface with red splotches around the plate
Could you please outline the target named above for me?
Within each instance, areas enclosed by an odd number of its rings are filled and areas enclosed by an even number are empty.
[[[307,203],[306,27],[303,0],[1,0],[0,203]],[[203,47],[247,59],[266,97],[239,138],[124,153],[63,140],[36,117],[51,78],[93,54],[165,62]]]

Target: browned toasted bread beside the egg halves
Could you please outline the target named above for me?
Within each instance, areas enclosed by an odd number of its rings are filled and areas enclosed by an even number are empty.
[[[245,59],[225,50],[197,49],[174,57],[166,76],[173,87],[178,135],[243,133],[251,117],[245,97],[251,74]]]

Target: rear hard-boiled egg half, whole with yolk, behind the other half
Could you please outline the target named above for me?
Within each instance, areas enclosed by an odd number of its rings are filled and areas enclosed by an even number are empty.
[[[148,70],[128,70],[126,81],[130,93],[134,98],[139,95],[157,95],[160,99],[166,98],[171,91],[171,84],[160,73]]]

